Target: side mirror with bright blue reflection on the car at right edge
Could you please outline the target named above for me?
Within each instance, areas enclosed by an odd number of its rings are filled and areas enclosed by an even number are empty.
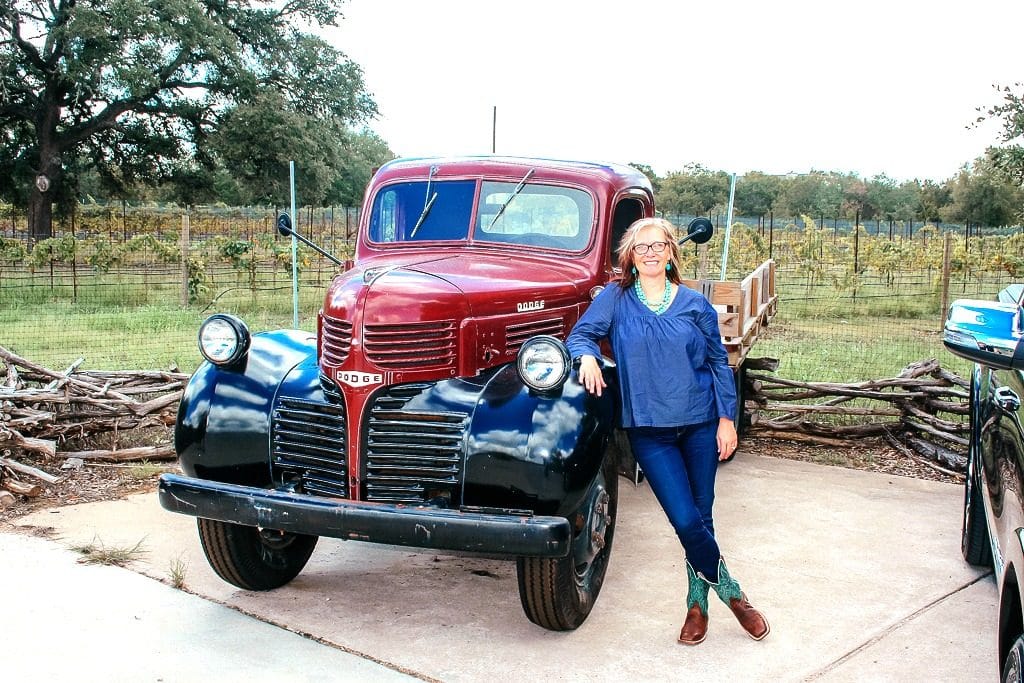
[[[962,358],[999,370],[1024,369],[1024,337],[1016,304],[957,299],[949,306],[942,344]]]

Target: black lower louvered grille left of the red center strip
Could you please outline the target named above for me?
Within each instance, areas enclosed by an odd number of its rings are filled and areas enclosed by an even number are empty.
[[[343,405],[279,398],[271,434],[275,480],[306,494],[348,498]]]

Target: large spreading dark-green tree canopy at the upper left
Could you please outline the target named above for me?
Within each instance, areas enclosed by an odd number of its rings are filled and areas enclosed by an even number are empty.
[[[325,199],[345,145],[377,114],[358,65],[309,32],[336,24],[337,5],[8,0],[0,172],[12,182],[0,191],[28,200],[37,237],[50,233],[52,203],[83,169],[115,190],[167,180],[196,190],[230,165],[249,181],[240,191],[284,203],[269,179],[287,178],[291,159],[310,199]],[[375,153],[390,157],[386,145]]]

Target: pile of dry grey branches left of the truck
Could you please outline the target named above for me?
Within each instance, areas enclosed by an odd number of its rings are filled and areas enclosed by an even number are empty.
[[[174,424],[188,376],[162,371],[80,371],[84,358],[57,372],[0,346],[0,489],[38,496],[31,477],[57,477],[18,461],[32,454],[51,461],[68,439]],[[116,442],[116,439],[115,439]],[[171,444],[122,450],[61,452],[66,459],[169,460]],[[24,459],[22,459],[24,460]]]

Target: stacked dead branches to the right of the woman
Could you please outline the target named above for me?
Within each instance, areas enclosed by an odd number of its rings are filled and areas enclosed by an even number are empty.
[[[935,358],[910,364],[897,377],[851,384],[751,372],[777,368],[774,358],[745,362],[743,407],[752,435],[837,446],[880,437],[947,474],[967,469],[970,384]]]

